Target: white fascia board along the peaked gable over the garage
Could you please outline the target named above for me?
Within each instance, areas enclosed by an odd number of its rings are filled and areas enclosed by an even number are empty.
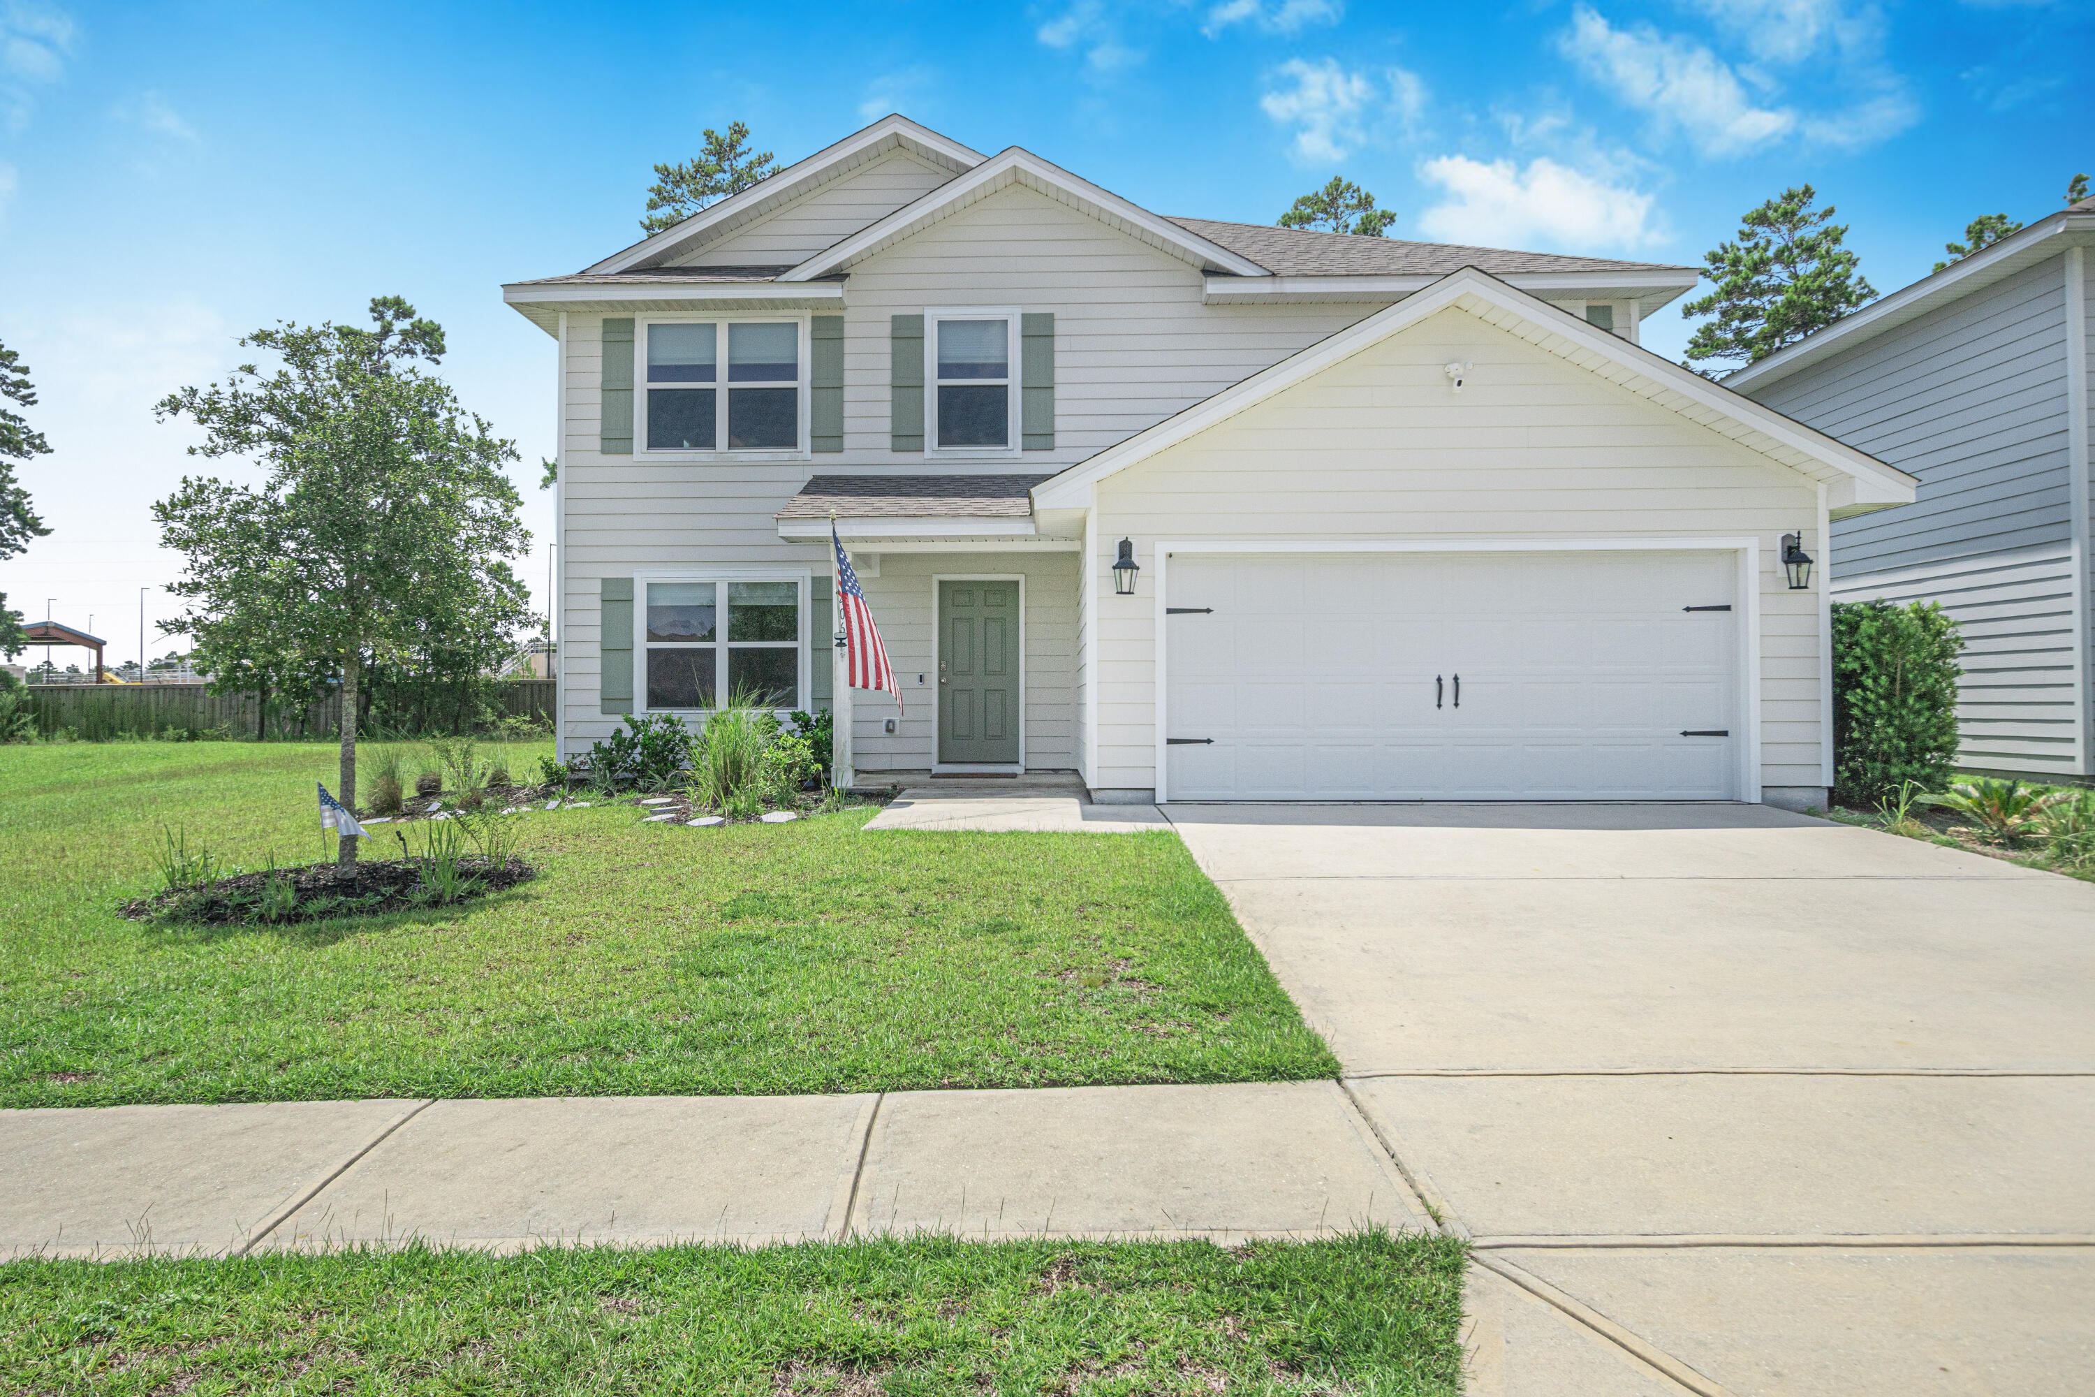
[[[1389,335],[1410,329],[1418,320],[1454,306],[1462,297],[1475,297],[1477,302],[1496,306],[1513,318],[1544,329],[1557,341],[1567,341],[1578,350],[1586,350],[1603,360],[1619,364],[1628,371],[1628,377],[1642,379],[1659,394],[1680,394],[1682,398],[1689,398],[1720,417],[1733,419],[1749,431],[1758,431],[1772,442],[1787,446],[1808,461],[1816,461],[1837,475],[1850,478],[1854,482],[1852,490],[1862,503],[1881,501],[1886,505],[1904,505],[1913,501],[1913,488],[1917,484],[1913,475],[1854,450],[1852,446],[1844,446],[1823,431],[1814,431],[1804,423],[1791,421],[1774,408],[1762,406],[1751,398],[1712,383],[1699,373],[1682,369],[1680,364],[1634,346],[1611,331],[1588,325],[1582,316],[1573,316],[1559,306],[1550,306],[1548,302],[1529,295],[1527,291],[1508,287],[1496,276],[1479,272],[1477,268],[1462,268],[1460,272],[1441,276],[1433,287],[1418,291],[1387,310],[1379,310],[1366,320],[1360,320],[1358,325],[1351,325],[1337,335],[1280,360],[1272,369],[1255,373],[1242,383],[1196,402],[1177,417],[1167,417],[1148,431],[1140,431],[1119,446],[1108,446],[1089,461],[1068,467],[1054,480],[1033,486],[1033,509],[1077,509],[1089,501],[1089,488],[1100,480],[1115,475],[1138,461],[1154,457],[1169,446],[1177,446],[1179,442],[1207,431],[1228,417],[1236,417],[1274,394],[1293,387],[1295,383],[1301,383],[1303,379],[1309,379],[1324,369],[1351,358],[1353,354],[1360,354],[1379,339],[1387,339]],[[1554,350],[1554,346],[1542,348]],[[1638,392],[1634,383],[1624,385],[1630,387],[1630,392]],[[1653,398],[1657,394],[1642,396]]]

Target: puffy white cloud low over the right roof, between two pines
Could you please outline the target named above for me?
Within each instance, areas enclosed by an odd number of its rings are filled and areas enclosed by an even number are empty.
[[[1448,193],[1418,220],[1427,237],[1446,243],[1603,251],[1663,239],[1651,195],[1552,159],[1521,170],[1510,159],[1487,165],[1441,155],[1425,161],[1418,178]]]

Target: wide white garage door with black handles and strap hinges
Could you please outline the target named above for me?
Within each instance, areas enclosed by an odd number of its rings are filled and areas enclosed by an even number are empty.
[[[1173,800],[1730,800],[1737,555],[1173,555]]]

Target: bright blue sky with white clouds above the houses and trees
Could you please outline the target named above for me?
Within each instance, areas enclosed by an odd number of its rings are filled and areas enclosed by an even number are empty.
[[[446,375],[515,438],[543,591],[553,350],[499,287],[633,241],[649,165],[737,117],[781,163],[903,111],[1163,214],[1270,222],[1345,174],[1393,237],[1689,264],[1810,180],[1894,291],[2095,170],[2091,59],[2068,0],[0,0],[0,339],[57,448],[25,478],[57,532],[0,591],[130,658],[138,589],[178,576],[149,503],[243,473],[151,404],[247,329],[379,293],[442,320]]]

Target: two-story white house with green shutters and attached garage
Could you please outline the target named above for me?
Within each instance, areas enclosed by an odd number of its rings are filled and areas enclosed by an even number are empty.
[[[1827,528],[1913,482],[1638,348],[1693,285],[886,117],[503,289],[559,341],[559,750],[830,704],[834,528],[903,687],[861,781],[1823,802]]]

